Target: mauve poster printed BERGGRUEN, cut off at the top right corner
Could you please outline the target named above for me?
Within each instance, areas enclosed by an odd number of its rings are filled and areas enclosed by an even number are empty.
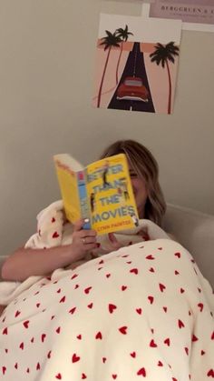
[[[214,31],[214,0],[155,0],[150,16],[181,19],[183,29]]]

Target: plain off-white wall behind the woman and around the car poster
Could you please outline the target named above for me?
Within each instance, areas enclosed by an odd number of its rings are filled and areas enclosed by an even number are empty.
[[[141,3],[1,1],[0,256],[59,197],[52,155],[90,162],[118,138],[151,148],[169,202],[214,214],[214,34],[182,33],[173,115],[93,109],[101,10],[141,15]]]

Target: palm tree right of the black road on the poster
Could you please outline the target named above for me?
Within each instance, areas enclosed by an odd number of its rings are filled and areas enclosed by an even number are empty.
[[[167,45],[162,45],[158,43],[155,45],[155,51],[151,53],[151,62],[156,62],[157,65],[162,65],[164,68],[167,67],[167,73],[169,78],[169,97],[168,97],[168,114],[171,111],[171,78],[170,78],[170,66],[169,61],[174,64],[175,55],[179,55],[179,47],[174,45],[174,42],[170,42]]]

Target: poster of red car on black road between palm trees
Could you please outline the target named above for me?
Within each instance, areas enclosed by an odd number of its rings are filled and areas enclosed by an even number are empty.
[[[102,14],[92,105],[171,114],[180,31],[180,20]]]

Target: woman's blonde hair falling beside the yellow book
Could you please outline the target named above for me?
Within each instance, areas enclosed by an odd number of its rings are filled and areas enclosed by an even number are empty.
[[[161,226],[166,211],[166,202],[159,184],[159,165],[148,148],[134,140],[118,140],[109,145],[100,158],[125,154],[131,168],[146,182],[148,198],[144,218]],[[141,216],[141,213],[140,213]]]

